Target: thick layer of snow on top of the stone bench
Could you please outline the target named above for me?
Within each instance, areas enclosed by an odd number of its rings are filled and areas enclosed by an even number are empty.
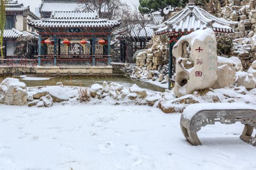
[[[197,103],[189,105],[183,111],[185,119],[191,119],[196,113],[204,110],[235,110],[235,109],[256,109],[256,106],[244,103]]]

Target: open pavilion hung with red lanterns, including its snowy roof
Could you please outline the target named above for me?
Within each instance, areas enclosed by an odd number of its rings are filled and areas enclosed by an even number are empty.
[[[96,11],[52,11],[49,18],[28,19],[39,34],[39,66],[110,65],[111,34],[120,24]]]

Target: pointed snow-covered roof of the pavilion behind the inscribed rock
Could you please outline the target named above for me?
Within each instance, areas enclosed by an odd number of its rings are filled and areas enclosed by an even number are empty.
[[[157,35],[196,31],[205,28],[212,28],[216,33],[233,33],[233,27],[236,24],[238,22],[215,17],[204,9],[194,4],[189,4],[188,7],[178,12],[166,22],[151,28],[154,29]]]

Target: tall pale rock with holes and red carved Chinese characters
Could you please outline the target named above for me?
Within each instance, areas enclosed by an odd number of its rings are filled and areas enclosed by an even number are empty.
[[[191,47],[189,58],[180,56],[183,42],[188,42]],[[172,50],[176,58],[174,93],[177,97],[212,87],[217,80],[216,49],[215,33],[211,28],[194,31],[178,40]]]

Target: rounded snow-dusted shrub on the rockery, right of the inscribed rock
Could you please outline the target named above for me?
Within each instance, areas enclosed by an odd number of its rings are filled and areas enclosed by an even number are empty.
[[[218,35],[216,36],[217,40],[217,50],[223,54],[227,54],[230,51],[230,48],[233,47],[233,37],[230,34]]]

